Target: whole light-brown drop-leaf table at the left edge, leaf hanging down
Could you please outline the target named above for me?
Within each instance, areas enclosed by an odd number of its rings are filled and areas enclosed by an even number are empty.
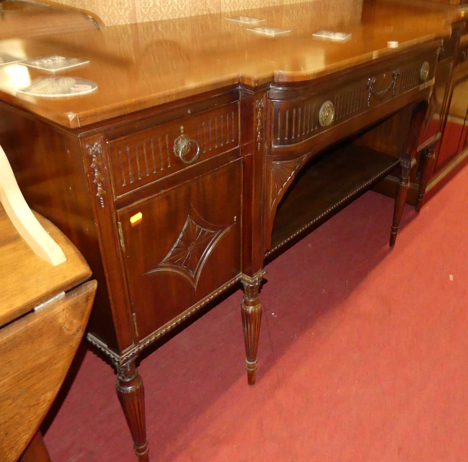
[[[14,462],[31,438],[24,461],[46,461],[38,427],[65,378],[95,297],[88,264],[56,226],[35,213],[61,246],[59,266],[38,257],[0,206],[0,454]],[[67,292],[66,292],[67,291]]]

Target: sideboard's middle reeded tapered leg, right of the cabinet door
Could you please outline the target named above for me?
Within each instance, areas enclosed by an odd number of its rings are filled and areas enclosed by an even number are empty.
[[[242,276],[244,299],[241,304],[241,314],[245,340],[245,366],[249,385],[255,383],[257,371],[258,338],[260,335],[260,321],[262,320],[262,304],[258,299],[258,291],[265,274],[265,271],[262,271],[254,277]]]

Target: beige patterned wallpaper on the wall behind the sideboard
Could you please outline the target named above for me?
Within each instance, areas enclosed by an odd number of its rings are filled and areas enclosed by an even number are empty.
[[[132,22],[158,21],[241,9],[270,7],[317,0],[56,0],[88,10],[113,26]],[[320,1],[320,0],[319,0]],[[322,0],[328,1],[328,0]],[[358,0],[362,4],[362,0]],[[355,4],[356,0],[341,3]]]

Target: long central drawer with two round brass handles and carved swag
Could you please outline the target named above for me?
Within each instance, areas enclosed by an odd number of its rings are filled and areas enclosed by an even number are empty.
[[[394,60],[308,87],[272,87],[270,146],[291,146],[431,82],[437,53]]]

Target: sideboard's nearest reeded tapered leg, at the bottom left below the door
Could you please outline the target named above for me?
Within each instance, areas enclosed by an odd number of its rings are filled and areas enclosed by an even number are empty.
[[[139,462],[149,462],[146,440],[145,392],[135,359],[117,366],[117,395],[133,438]]]

